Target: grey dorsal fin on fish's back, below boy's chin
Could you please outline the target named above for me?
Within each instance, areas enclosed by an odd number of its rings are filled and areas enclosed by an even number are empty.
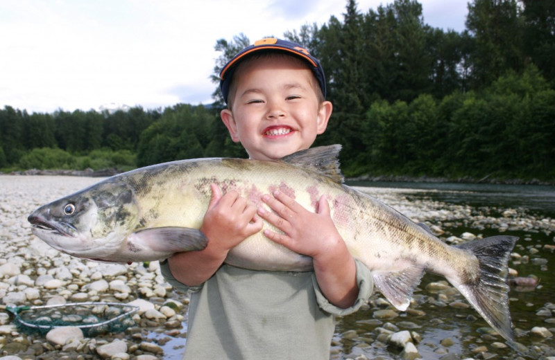
[[[282,157],[281,161],[323,174],[337,183],[343,183],[339,164],[341,145],[328,145],[300,150]]]

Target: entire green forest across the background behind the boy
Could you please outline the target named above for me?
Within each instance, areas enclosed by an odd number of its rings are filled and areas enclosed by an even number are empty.
[[[555,183],[555,1],[472,0],[466,29],[425,24],[418,1],[268,34],[321,60],[334,113],[315,145],[343,145],[345,177]],[[218,73],[251,43],[218,39],[214,103],[28,114],[0,109],[0,170],[120,171],[200,157],[246,157],[219,120]]]

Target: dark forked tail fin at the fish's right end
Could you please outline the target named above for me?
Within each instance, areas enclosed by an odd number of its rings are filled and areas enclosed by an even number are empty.
[[[472,252],[477,257],[479,277],[472,282],[456,284],[457,281],[449,279],[510,345],[513,345],[514,341],[506,278],[509,274],[509,256],[517,240],[518,237],[502,235],[456,246]]]

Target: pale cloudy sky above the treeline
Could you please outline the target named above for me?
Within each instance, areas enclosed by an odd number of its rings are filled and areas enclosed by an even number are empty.
[[[425,24],[465,28],[469,0],[419,0]],[[358,0],[362,13],[393,0]],[[218,39],[343,21],[340,0],[1,0],[0,109],[210,104]]]

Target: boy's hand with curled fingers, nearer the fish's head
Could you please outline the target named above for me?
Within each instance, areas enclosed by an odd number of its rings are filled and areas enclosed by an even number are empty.
[[[234,246],[262,229],[262,219],[256,207],[248,204],[237,191],[221,195],[216,184],[210,186],[212,197],[204,215],[202,231],[213,251],[227,253]],[[212,241],[214,240],[214,241]]]

